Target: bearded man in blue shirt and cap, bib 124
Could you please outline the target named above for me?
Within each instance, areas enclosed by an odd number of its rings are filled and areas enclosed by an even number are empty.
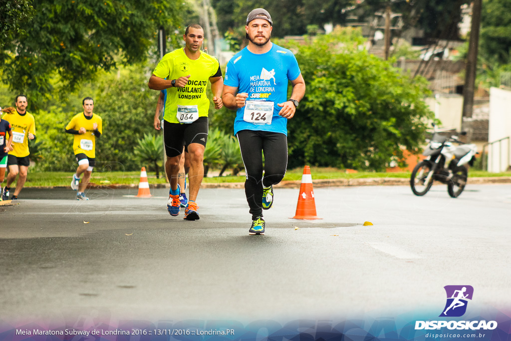
[[[273,185],[286,172],[287,120],[305,94],[295,56],[270,41],[272,25],[263,8],[248,14],[248,46],[227,63],[222,95],[224,105],[237,110],[234,133],[245,165],[245,195],[252,215],[249,234],[258,235],[264,234],[263,210],[272,206]],[[288,81],[293,86],[289,99]]]

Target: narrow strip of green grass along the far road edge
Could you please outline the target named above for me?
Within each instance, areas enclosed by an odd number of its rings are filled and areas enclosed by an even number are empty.
[[[290,169],[286,172],[284,180],[300,180],[303,174],[303,168]],[[346,173],[344,170],[339,170],[330,167],[311,167],[311,174],[313,179],[352,179],[352,178],[378,178],[378,177],[393,177],[393,178],[409,178],[410,172],[400,173],[377,173],[377,172],[358,172]],[[56,187],[56,186],[69,186],[71,184],[71,172],[36,172],[29,171],[25,187]],[[511,172],[505,173],[489,173],[484,171],[469,171],[470,177],[496,177],[496,176],[511,176]],[[167,181],[165,177],[160,175],[157,179],[156,175],[152,172],[147,173],[148,181],[150,184],[165,184]],[[98,172],[93,171],[90,182],[97,185],[138,185],[140,181],[140,172]],[[204,183],[243,183],[245,176],[212,176],[204,178]]]

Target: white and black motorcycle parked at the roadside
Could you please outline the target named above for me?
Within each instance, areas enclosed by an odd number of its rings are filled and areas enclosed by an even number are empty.
[[[460,145],[454,146],[453,143]],[[423,152],[428,157],[413,168],[410,176],[413,194],[423,196],[428,193],[433,181],[439,181],[447,185],[447,192],[452,198],[457,198],[467,185],[468,166],[474,164],[476,154],[475,144],[462,144],[457,136],[447,138],[435,131]]]

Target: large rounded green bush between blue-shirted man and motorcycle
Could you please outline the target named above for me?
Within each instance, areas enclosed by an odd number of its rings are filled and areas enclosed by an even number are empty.
[[[426,81],[359,50],[362,42],[345,29],[294,47],[307,90],[288,122],[289,167],[383,170],[402,148],[419,151],[432,117]]]

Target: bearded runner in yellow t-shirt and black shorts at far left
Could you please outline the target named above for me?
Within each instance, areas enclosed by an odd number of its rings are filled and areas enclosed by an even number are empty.
[[[27,111],[27,96],[18,95],[15,99],[16,110],[7,112],[2,119],[11,124],[12,133],[12,150],[7,156],[7,167],[9,174],[7,175],[7,183],[2,193],[4,200],[9,199],[11,184],[19,174],[16,183],[16,189],[12,195],[12,200],[18,198],[19,192],[25,185],[29,170],[29,141],[35,141],[35,119],[31,113]]]

